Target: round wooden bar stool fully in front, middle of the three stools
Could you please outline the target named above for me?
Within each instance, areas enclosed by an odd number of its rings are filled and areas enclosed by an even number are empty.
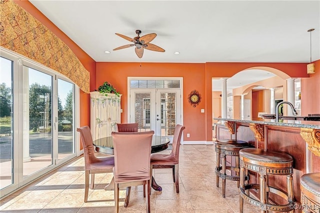
[[[294,212],[293,198],[293,158],[285,152],[270,151],[261,148],[243,148],[239,151],[240,157],[240,212],[243,212],[243,199],[258,206],[261,211],[290,211]],[[248,183],[247,172],[255,171],[259,174],[259,183]],[[247,176],[246,176],[246,175]],[[268,174],[286,175],[287,191],[268,185]],[[259,200],[249,196],[248,189],[259,189]],[[268,203],[268,193],[272,192],[287,200],[286,204]]]

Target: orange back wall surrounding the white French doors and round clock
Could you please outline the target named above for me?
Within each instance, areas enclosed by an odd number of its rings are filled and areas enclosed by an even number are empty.
[[[204,63],[141,63],[140,66],[140,63],[134,62],[97,62],[95,87],[108,81],[122,94],[121,122],[127,122],[128,76],[183,77],[184,140],[205,140],[206,115],[200,112],[201,108],[205,108]],[[196,107],[190,105],[187,100],[188,94],[194,89],[201,95],[201,102]],[[190,133],[190,137],[186,137],[186,133]]]

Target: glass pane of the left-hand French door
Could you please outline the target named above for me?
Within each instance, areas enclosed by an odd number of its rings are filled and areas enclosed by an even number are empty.
[[[135,92],[134,105],[138,131],[150,130],[150,92]]]

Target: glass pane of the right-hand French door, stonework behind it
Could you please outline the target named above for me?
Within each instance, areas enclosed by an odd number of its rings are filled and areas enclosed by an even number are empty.
[[[176,125],[176,93],[160,92],[161,136],[173,136]]]

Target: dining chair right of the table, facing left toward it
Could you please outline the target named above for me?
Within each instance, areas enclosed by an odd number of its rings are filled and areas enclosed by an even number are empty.
[[[172,178],[175,183],[175,191],[179,193],[179,148],[182,131],[185,126],[177,124],[174,128],[172,151],[170,154],[151,154],[151,166],[153,168],[172,168]],[[151,169],[151,172],[152,172]]]

